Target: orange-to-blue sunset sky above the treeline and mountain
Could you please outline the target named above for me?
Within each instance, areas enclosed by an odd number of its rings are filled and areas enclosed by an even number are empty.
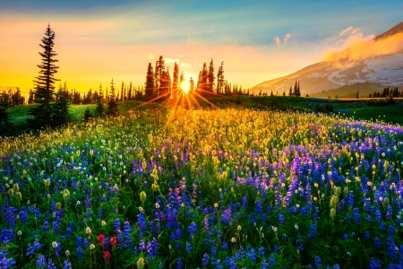
[[[105,90],[112,78],[142,86],[159,56],[186,81],[224,62],[227,81],[247,89],[373,39],[402,22],[401,10],[388,0],[0,0],[0,89],[34,87],[48,23],[56,78],[69,89]]]

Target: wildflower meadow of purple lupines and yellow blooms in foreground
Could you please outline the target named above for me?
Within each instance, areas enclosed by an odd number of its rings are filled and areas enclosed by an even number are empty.
[[[1,268],[401,268],[403,128],[130,110],[0,140]]]

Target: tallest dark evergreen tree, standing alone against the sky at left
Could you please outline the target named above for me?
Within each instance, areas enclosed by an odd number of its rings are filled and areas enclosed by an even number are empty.
[[[35,103],[39,106],[30,108],[30,118],[28,122],[34,128],[52,126],[52,107],[50,102],[53,99],[55,86],[54,83],[58,81],[55,78],[58,66],[55,63],[56,53],[53,49],[55,46],[55,32],[47,25],[45,37],[42,43],[39,44],[43,48],[43,52],[39,52],[41,56],[41,64],[39,67],[39,76],[36,77],[35,82]]]

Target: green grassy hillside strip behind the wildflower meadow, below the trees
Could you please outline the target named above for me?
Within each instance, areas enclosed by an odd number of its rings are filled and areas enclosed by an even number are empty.
[[[121,113],[132,109],[159,108],[163,110],[174,107],[173,104],[167,105],[166,102],[144,103],[136,100],[120,102],[118,105]],[[373,107],[368,103],[368,100],[334,100],[289,96],[213,96],[207,98],[207,100],[197,99],[197,104],[192,100],[184,99],[176,107],[185,109],[253,108],[335,113],[346,117],[354,117],[355,119],[381,119],[386,123],[403,125],[403,115],[397,113],[397,111],[403,109],[403,100],[401,99],[395,100],[394,104]],[[27,118],[30,117],[28,115],[30,108],[31,106],[21,106],[8,110],[14,125],[15,134],[23,134],[30,131],[27,125]],[[71,106],[70,112],[73,122],[83,119],[86,108],[90,108],[90,111],[94,114],[96,105]]]

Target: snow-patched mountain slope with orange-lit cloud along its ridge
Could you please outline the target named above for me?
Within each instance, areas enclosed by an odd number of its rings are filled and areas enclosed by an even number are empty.
[[[259,83],[252,92],[288,93],[299,80],[303,94],[328,91],[356,82],[403,86],[403,22],[374,39],[353,44],[293,74]]]

